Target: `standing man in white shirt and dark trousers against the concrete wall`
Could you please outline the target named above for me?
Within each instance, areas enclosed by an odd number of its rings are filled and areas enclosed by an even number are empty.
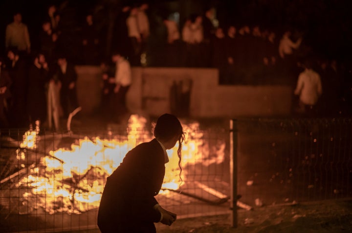
[[[115,120],[120,121],[124,115],[128,113],[126,107],[126,94],[132,84],[131,65],[120,53],[112,54],[112,62],[116,64],[115,77],[110,82],[115,82],[114,88],[114,106],[111,111]]]

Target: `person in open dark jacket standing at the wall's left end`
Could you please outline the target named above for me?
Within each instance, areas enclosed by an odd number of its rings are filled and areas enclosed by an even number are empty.
[[[61,55],[57,60],[56,79],[61,82],[60,103],[63,116],[68,115],[79,107],[76,92],[77,73],[74,66],[67,62],[66,57]]]

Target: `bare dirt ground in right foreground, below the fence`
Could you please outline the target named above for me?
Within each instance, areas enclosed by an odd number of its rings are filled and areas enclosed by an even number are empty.
[[[171,227],[156,224],[158,233],[347,233],[352,232],[352,200],[238,211],[238,227],[230,215],[179,219]]]

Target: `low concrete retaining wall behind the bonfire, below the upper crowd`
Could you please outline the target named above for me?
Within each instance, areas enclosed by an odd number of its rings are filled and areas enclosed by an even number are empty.
[[[98,67],[77,66],[78,101],[83,113],[100,104]],[[173,112],[174,82],[190,90],[189,115],[193,117],[285,116],[290,114],[292,89],[287,86],[220,86],[218,70],[197,68],[132,68],[127,105],[132,113],[159,116]],[[182,92],[182,90],[180,90]],[[175,106],[174,106],[175,107]],[[177,114],[177,113],[176,113]]]

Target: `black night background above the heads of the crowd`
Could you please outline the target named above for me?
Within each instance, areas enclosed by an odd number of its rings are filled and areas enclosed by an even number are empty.
[[[303,43],[311,48],[311,55],[340,61],[351,59],[352,3],[347,0],[3,0],[0,3],[0,51],[4,51],[5,27],[12,22],[14,11],[22,13],[22,22],[27,24],[35,48],[35,38],[50,3],[63,7],[62,20],[74,31],[80,29],[84,16],[92,13],[104,36],[111,11],[117,15],[122,6],[141,2],[150,4],[148,14],[152,34],[159,33],[160,18],[165,15],[179,12],[181,28],[190,14],[203,14],[207,7],[214,6],[220,27],[259,25],[276,31],[277,37],[289,29],[296,36],[303,36]]]

